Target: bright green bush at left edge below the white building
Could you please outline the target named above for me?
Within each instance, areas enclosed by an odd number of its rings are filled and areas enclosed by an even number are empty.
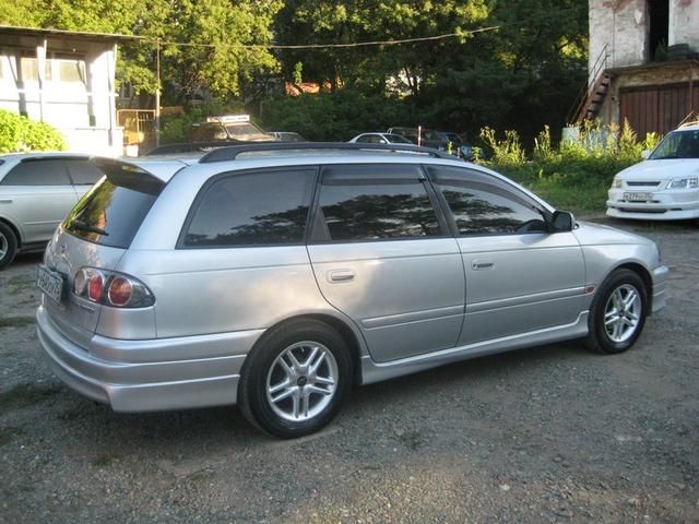
[[[66,148],[63,136],[49,124],[0,109],[0,153]]]

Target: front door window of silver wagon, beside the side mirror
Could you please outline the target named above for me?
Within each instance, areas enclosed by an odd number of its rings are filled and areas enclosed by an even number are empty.
[[[461,236],[511,235],[546,230],[536,204],[501,181],[475,171],[430,169]]]

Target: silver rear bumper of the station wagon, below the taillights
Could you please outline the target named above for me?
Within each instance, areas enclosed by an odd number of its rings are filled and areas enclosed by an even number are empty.
[[[58,378],[116,412],[235,404],[240,368],[262,333],[256,330],[153,341],[95,335],[91,347],[84,348],[66,337],[43,307],[37,310],[36,321],[39,345]],[[222,347],[227,348],[225,354]],[[118,358],[98,357],[95,352]]]

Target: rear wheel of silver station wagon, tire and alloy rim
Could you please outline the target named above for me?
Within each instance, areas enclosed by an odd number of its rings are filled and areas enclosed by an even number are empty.
[[[340,412],[353,359],[328,324],[295,320],[265,333],[246,358],[238,405],[258,428],[283,439],[313,433]]]

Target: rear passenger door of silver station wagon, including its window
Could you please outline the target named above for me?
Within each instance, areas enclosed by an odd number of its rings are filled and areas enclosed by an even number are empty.
[[[308,252],[324,298],[379,362],[453,347],[463,321],[459,246],[416,165],[327,166]]]

